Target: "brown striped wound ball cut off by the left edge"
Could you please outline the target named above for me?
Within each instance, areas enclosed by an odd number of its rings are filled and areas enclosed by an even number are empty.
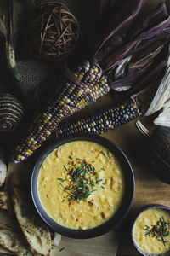
[[[11,94],[0,94],[0,132],[10,132],[20,125],[24,109]]]

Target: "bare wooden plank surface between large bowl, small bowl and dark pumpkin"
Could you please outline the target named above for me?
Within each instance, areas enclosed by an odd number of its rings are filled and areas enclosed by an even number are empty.
[[[147,124],[149,119],[144,119]],[[119,230],[119,246],[117,255],[140,255],[133,247],[131,241],[131,226],[133,219],[141,207],[148,204],[161,204],[170,207],[169,191],[170,187],[166,183],[159,181],[152,171],[150,165],[145,158],[146,148],[144,146],[144,136],[139,134],[133,123],[123,125],[115,132],[112,131],[105,134],[127,154],[133,166],[135,176],[135,195],[133,205],[127,218],[124,220]]]

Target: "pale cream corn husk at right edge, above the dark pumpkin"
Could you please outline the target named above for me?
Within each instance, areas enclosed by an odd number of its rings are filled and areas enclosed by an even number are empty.
[[[170,47],[168,50],[168,55],[169,57],[167,60],[166,73],[163,79],[161,80],[161,84],[159,85],[158,90],[156,91],[156,95],[154,96],[150,104],[150,107],[144,114],[146,116],[161,110],[161,108],[164,108],[164,106],[169,101],[169,98],[170,98]],[[167,112],[167,107],[166,107],[166,112]],[[161,113],[161,114],[163,114],[163,116],[165,117],[164,115],[165,113]]]

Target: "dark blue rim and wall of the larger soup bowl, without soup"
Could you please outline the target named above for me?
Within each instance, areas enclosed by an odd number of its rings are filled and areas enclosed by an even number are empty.
[[[91,141],[94,143],[99,143],[105,148],[108,148],[114,155],[116,155],[117,160],[119,160],[122,167],[122,172],[125,177],[125,193],[122,199],[121,206],[117,209],[114,216],[108,221],[106,221],[105,224],[101,224],[96,228],[89,229],[89,230],[73,230],[57,224],[54,221],[54,219],[48,216],[48,213],[42,207],[41,201],[38,196],[38,191],[37,191],[38,174],[41,169],[42,163],[47,158],[48,154],[54,151],[55,148],[59,148],[59,146],[65,143],[71,143],[75,141]],[[91,237],[101,236],[106,232],[108,232],[109,230],[111,230],[112,228],[115,228],[118,224],[120,224],[122,222],[122,219],[125,218],[125,216],[127,215],[127,212],[129,211],[132,205],[134,188],[135,188],[135,183],[134,183],[133,169],[129,161],[127,160],[127,156],[114,143],[111,143],[111,141],[105,139],[104,137],[99,137],[96,135],[94,136],[94,135],[84,134],[84,135],[75,135],[71,137],[63,137],[58,141],[56,141],[55,143],[52,143],[51,145],[48,146],[48,148],[46,148],[43,151],[43,153],[38,158],[37,163],[32,172],[32,177],[31,177],[31,195],[32,195],[32,199],[34,201],[35,207],[37,208],[37,212],[53,230],[57,231],[61,235],[69,236],[73,238],[91,238]]]

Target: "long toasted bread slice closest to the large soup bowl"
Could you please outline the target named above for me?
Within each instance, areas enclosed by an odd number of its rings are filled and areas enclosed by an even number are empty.
[[[51,250],[51,236],[48,225],[37,215],[26,193],[14,187],[14,212],[20,228],[31,247],[42,255],[48,255]]]

